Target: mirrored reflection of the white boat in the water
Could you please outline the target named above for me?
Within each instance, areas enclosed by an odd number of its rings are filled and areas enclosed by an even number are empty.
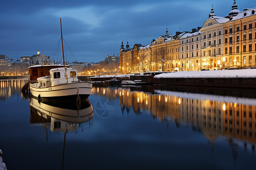
[[[30,124],[50,126],[51,131],[75,131],[79,125],[89,121],[92,123],[93,108],[89,101],[81,104],[73,102],[39,102],[30,97]]]

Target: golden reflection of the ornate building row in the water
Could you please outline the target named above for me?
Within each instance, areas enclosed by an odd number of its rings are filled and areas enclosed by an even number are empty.
[[[191,126],[201,131],[214,146],[218,137],[226,137],[233,152],[237,144],[255,152],[256,99],[189,94],[187,92],[153,90],[131,91],[130,88],[94,87],[93,95],[119,99],[122,114],[130,109],[135,114],[149,111],[160,122],[174,122],[176,126]],[[236,155],[236,153],[233,153]]]

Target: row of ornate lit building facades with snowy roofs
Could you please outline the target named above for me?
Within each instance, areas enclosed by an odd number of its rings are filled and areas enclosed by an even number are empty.
[[[151,44],[121,45],[121,73],[147,71],[221,70],[256,66],[256,7],[238,10],[234,0],[227,16],[214,14],[202,27],[152,40]]]

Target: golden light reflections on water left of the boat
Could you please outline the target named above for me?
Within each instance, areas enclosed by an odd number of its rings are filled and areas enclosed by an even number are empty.
[[[20,91],[28,80],[0,80],[0,100],[6,100],[11,96],[19,96],[24,99]]]

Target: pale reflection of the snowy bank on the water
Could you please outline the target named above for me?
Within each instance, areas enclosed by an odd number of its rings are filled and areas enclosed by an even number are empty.
[[[247,104],[247,105],[255,105],[256,103],[256,99],[248,99],[248,98],[233,97],[233,96],[193,94],[188,92],[175,92],[175,91],[163,91],[163,90],[154,90],[154,92],[156,92],[156,94],[177,96],[185,99],[210,100],[210,101],[220,101],[225,103],[237,103],[237,104]]]

